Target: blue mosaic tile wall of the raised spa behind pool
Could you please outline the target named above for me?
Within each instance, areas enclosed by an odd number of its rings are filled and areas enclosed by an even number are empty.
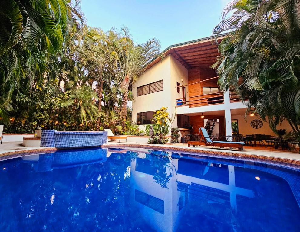
[[[98,147],[107,143],[106,131],[42,130],[41,147]]]

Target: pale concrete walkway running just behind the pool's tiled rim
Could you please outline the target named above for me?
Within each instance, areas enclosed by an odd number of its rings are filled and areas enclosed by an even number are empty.
[[[138,142],[108,142],[107,144],[112,144],[114,146],[120,145],[126,146],[127,144],[132,144],[132,145],[150,145],[148,143],[138,143]],[[183,145],[182,143],[177,143],[177,144],[171,144],[168,143],[166,145],[151,145],[153,147],[157,147],[159,149],[160,147],[178,147],[178,148],[185,148],[189,149],[189,147],[185,144]],[[0,144],[0,154],[7,153],[7,152],[14,152],[14,151],[30,151],[33,149],[41,149],[41,147],[23,147],[21,142],[6,142]],[[43,148],[45,149],[45,148]],[[300,161],[300,154],[296,152],[287,152],[287,151],[281,151],[281,150],[256,150],[256,149],[249,149],[246,148],[244,151],[237,151],[237,150],[223,150],[223,149],[212,149],[210,147],[191,147],[190,149],[193,150],[199,150],[199,151],[216,151],[216,152],[230,152],[230,153],[236,153],[236,154],[249,154],[249,155],[258,155],[258,156],[269,156],[269,157],[276,157],[276,158],[283,158],[283,159],[293,159],[293,160],[298,160]]]

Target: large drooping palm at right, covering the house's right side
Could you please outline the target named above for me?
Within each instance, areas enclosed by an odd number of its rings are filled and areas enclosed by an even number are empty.
[[[218,84],[249,97],[248,111],[255,109],[274,131],[287,120],[300,134],[300,1],[236,0],[221,19],[213,34],[228,35],[212,66]]]

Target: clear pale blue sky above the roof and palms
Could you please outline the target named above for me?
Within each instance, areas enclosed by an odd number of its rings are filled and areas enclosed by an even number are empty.
[[[210,36],[230,0],[82,0],[87,24],[107,31],[127,26],[134,41],[156,37],[161,49]]]

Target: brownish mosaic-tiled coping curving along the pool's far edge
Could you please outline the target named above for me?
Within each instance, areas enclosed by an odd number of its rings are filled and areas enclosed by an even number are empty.
[[[199,150],[196,148],[183,148],[183,147],[173,147],[167,145],[152,145],[152,144],[130,144],[130,143],[121,143],[121,144],[103,144],[99,146],[101,148],[146,148],[151,150],[163,150],[163,151],[176,151],[176,152],[186,152],[191,155],[201,155],[201,156],[212,156],[216,158],[229,158],[229,159],[243,159],[247,161],[261,162],[261,163],[269,163],[273,165],[285,166],[290,168],[300,169],[300,160],[288,159],[288,158],[279,158],[272,156],[260,156],[254,154],[243,154],[243,153],[235,153],[235,152],[224,152],[218,150]],[[43,154],[43,153],[53,153],[56,150],[60,150],[55,147],[45,147],[45,148],[37,148],[37,149],[26,149],[26,150],[18,150],[0,153],[0,161],[5,159],[12,159],[21,156],[27,155],[35,155],[35,154]]]

